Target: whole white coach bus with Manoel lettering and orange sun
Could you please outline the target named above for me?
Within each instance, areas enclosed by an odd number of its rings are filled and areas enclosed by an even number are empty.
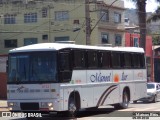
[[[142,48],[41,43],[9,51],[7,97],[11,111],[69,111],[146,96]]]

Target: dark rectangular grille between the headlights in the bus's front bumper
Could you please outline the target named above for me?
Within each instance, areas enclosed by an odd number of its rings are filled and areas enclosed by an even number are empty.
[[[21,110],[39,110],[38,103],[21,103]]]

